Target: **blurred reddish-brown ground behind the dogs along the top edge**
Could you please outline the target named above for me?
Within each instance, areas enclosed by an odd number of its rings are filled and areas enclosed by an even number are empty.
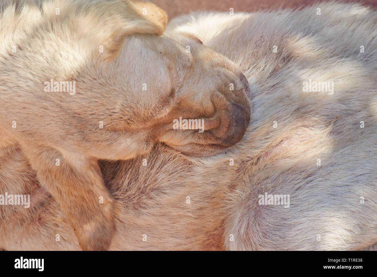
[[[167,11],[169,19],[192,11],[253,12],[270,8],[299,8],[309,6],[314,0],[152,0],[154,4]],[[328,2],[328,1],[320,1]],[[345,3],[361,3],[377,9],[377,0],[340,0]]]

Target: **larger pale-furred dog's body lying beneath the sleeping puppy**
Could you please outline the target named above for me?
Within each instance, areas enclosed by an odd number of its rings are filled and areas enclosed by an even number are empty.
[[[146,156],[101,162],[115,199],[110,249],[355,250],[374,244],[376,15],[327,3],[173,20],[170,29],[193,32],[241,66],[250,83],[251,123],[239,144],[210,158],[159,144]],[[202,27],[209,25],[216,28]],[[309,80],[333,81],[333,93],[329,87],[304,92]],[[31,194],[32,208],[0,206],[0,247],[79,249],[21,149],[3,151],[1,165],[0,191]],[[265,193],[289,195],[289,208],[259,205]]]

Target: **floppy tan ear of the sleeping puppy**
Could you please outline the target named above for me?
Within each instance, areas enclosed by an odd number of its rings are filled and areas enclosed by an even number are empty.
[[[104,32],[98,34],[103,40],[103,54],[106,60],[115,58],[131,34],[161,35],[166,28],[167,15],[150,2],[122,0],[111,6],[103,21]],[[110,30],[111,29],[111,30]]]

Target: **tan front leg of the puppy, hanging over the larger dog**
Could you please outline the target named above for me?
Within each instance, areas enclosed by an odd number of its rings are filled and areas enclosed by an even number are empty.
[[[107,250],[114,232],[112,198],[97,160],[23,144],[41,185],[60,204],[83,250]]]

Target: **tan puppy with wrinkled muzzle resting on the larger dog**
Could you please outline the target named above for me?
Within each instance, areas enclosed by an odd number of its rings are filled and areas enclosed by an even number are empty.
[[[23,150],[84,250],[107,249],[114,231],[98,159],[133,158],[156,142],[208,156],[242,138],[244,75],[192,35],[158,36],[166,14],[152,3],[5,1],[0,12],[0,146]],[[75,91],[46,92],[51,79]],[[204,119],[205,132],[174,130],[179,117]]]

